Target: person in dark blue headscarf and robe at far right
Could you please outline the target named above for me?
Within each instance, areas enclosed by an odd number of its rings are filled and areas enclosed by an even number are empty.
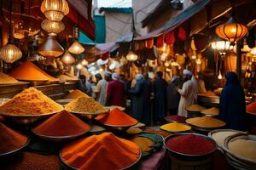
[[[226,84],[220,96],[219,118],[227,123],[227,127],[246,130],[246,103],[235,72],[227,72]]]

